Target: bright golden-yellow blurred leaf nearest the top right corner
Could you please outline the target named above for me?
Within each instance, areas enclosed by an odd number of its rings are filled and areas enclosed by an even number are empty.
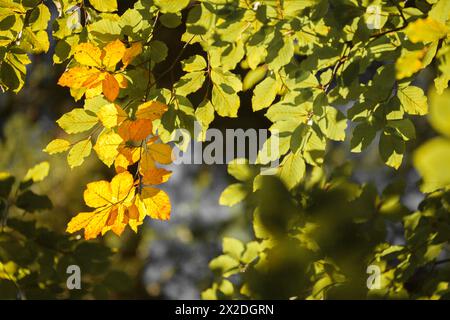
[[[419,19],[409,24],[405,30],[408,38],[416,42],[433,42],[445,38],[450,29],[430,17]]]

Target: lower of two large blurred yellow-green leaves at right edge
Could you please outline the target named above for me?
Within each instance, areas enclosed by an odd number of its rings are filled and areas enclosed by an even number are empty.
[[[427,141],[416,150],[413,162],[423,178],[423,192],[433,192],[450,185],[450,140],[434,138]]]

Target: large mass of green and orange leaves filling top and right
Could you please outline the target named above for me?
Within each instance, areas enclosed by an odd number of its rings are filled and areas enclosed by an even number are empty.
[[[84,199],[93,211],[73,218],[67,231],[84,229],[91,239],[109,230],[120,235],[126,225],[136,231],[147,215],[168,219],[168,196],[153,185],[170,176],[156,164],[172,161],[174,131],[192,132],[198,120],[204,133],[220,117],[238,118],[250,94],[254,114],[265,112],[271,132],[279,133],[280,153],[261,153],[255,167],[230,164],[239,182],[220,202],[245,200],[256,240],[224,239],[224,255],[211,262],[219,280],[204,297],[447,297],[448,274],[437,259],[447,254],[449,237],[448,110],[441,103],[450,80],[450,5],[411,2],[138,0],[122,12],[115,0],[54,1],[53,62],[67,62],[58,83],[76,101],[84,97],[57,122],[82,136],[57,138],[45,151],[68,151],[74,168],[94,149],[115,169],[110,181],[87,185]],[[1,85],[17,92],[27,54],[49,48],[49,8],[42,1],[1,3]],[[160,25],[185,31],[180,52],[155,76],[169,48],[156,39]],[[194,46],[199,52],[184,56]],[[176,67],[183,71],[178,80]],[[433,71],[429,108],[427,85],[417,79]],[[427,193],[417,211],[401,204],[400,185],[378,193],[352,182],[347,167],[327,163],[335,141],[349,141],[353,153],[376,144],[380,159],[401,170],[416,119],[429,109],[443,137],[414,152]],[[261,152],[270,144],[271,138]],[[274,160],[281,163],[276,177],[258,174]],[[36,198],[26,197],[24,205]],[[393,245],[387,236],[395,224],[403,232]],[[367,289],[371,263],[383,272],[381,289]]]

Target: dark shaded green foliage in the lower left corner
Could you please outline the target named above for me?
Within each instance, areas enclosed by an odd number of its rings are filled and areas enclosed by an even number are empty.
[[[126,274],[110,268],[109,248],[59,234],[14,213],[34,216],[52,207],[47,196],[32,190],[48,172],[48,162],[34,166],[17,182],[0,172],[0,298],[105,298],[108,290],[117,288],[117,281],[127,281]],[[70,265],[83,270],[82,290],[66,286]]]

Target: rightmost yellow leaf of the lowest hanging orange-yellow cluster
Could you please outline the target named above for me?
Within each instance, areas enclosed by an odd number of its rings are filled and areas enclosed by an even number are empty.
[[[170,199],[167,193],[160,189],[147,187],[142,190],[139,201],[139,210],[153,219],[170,219]]]

